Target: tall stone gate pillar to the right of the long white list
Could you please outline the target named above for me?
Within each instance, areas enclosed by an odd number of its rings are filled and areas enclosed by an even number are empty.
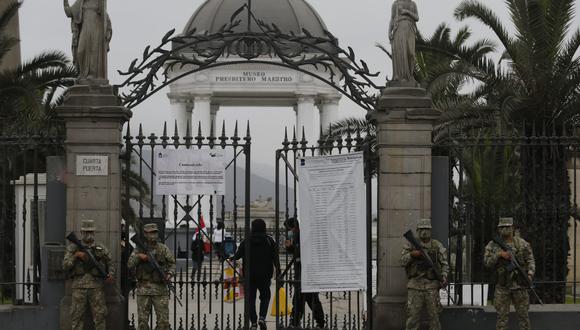
[[[438,116],[423,89],[404,87],[387,87],[369,115],[377,125],[380,158],[373,329],[405,329],[403,233],[431,216],[431,133]]]

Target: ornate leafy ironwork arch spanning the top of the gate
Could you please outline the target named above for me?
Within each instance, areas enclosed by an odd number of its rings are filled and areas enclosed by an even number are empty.
[[[241,23],[236,17],[244,9],[259,32],[250,31],[250,24],[246,32],[234,31]],[[230,56],[239,56],[240,60],[219,61]],[[273,58],[280,61],[268,60]],[[240,7],[217,33],[197,33],[193,29],[185,35],[175,35],[175,29],[169,31],[159,46],[147,46],[141,59],[133,60],[126,71],[118,71],[126,80],[117,87],[129,90],[122,92],[121,98],[126,107],[133,108],[187,75],[240,63],[270,64],[303,72],[369,111],[375,109],[383,88],[373,82],[379,72],[371,72],[363,60],[356,58],[351,47],[340,48],[338,39],[330,32],[325,30],[324,36],[315,36],[303,29],[300,35],[286,34],[275,24],[256,19],[247,5]],[[184,67],[190,69],[170,76],[174,68]]]

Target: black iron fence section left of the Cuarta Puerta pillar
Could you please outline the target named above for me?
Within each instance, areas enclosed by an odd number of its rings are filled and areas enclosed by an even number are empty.
[[[0,137],[0,304],[38,304],[46,210],[46,156],[62,140]]]

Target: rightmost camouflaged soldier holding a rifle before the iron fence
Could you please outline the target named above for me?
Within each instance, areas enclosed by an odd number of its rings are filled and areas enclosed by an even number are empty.
[[[500,218],[497,227],[501,238],[511,248],[512,254],[532,281],[536,271],[536,262],[530,244],[521,237],[514,237],[512,218]],[[497,310],[496,329],[507,329],[510,303],[513,303],[518,315],[520,329],[529,330],[530,296],[528,287],[525,280],[520,278],[517,270],[510,271],[508,269],[510,260],[510,255],[502,250],[497,243],[491,241],[485,247],[484,264],[495,270],[496,277],[493,299],[493,304]]]

